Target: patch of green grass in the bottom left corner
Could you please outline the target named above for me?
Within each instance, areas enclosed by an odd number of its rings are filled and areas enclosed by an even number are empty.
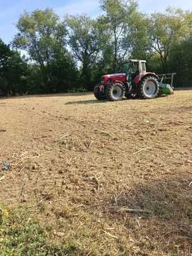
[[[26,209],[13,210],[4,215],[1,211],[1,220],[1,256],[84,255],[73,243],[51,242],[51,229],[42,227]]]

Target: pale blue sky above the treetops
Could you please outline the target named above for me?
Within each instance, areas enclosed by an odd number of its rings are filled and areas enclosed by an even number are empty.
[[[192,10],[191,0],[138,0],[141,11],[163,11],[167,6]],[[72,15],[88,13],[96,17],[100,13],[98,0],[0,0],[0,38],[9,43],[15,33],[15,24],[24,10],[53,8],[61,17],[66,13]]]

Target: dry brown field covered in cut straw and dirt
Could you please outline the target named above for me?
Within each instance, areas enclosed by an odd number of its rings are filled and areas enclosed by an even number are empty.
[[[0,202],[29,207],[77,255],[191,255],[191,102],[1,99]]]

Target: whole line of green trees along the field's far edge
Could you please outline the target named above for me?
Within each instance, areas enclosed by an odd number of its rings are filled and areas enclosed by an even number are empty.
[[[0,92],[90,91],[129,58],[148,71],[177,72],[175,86],[192,85],[192,12],[168,8],[147,15],[134,0],[98,1],[101,15],[25,11],[13,41],[0,39]],[[21,57],[20,51],[25,55]]]

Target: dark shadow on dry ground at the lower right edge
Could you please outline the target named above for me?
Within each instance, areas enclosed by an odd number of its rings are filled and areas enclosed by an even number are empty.
[[[119,207],[143,209],[159,218],[167,220],[192,220],[192,187],[189,174],[173,179],[153,180],[137,184],[134,189],[117,194]],[[110,202],[114,205],[114,199]],[[192,230],[191,230],[192,231]],[[192,237],[192,233],[191,233]]]

